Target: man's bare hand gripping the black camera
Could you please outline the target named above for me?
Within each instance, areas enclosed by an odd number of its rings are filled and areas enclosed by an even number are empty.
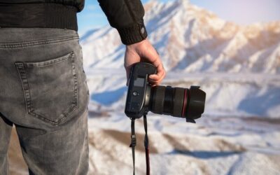
[[[157,74],[149,76],[149,82],[153,86],[159,85],[162,82],[162,79],[165,78],[165,69],[162,66],[160,56],[148,39],[139,43],[127,45],[126,47],[124,66],[125,71],[127,71],[127,85],[132,65],[137,62],[149,62],[157,68]]]

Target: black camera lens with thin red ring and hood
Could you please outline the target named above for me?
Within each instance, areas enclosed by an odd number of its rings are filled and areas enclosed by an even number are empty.
[[[204,112],[206,94],[200,87],[152,87],[150,111],[193,121]]]

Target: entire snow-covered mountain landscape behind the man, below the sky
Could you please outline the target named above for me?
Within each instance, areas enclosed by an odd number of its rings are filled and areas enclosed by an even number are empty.
[[[197,124],[148,114],[151,174],[280,174],[280,22],[241,27],[189,1],[145,7],[149,39],[167,69],[162,85],[207,92]],[[108,27],[90,31],[81,45],[90,174],[132,174],[125,47]],[[136,172],[146,174],[142,120],[136,131]]]

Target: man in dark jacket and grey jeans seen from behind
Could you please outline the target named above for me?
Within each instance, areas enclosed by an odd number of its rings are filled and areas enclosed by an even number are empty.
[[[99,0],[132,64],[162,62],[149,43],[140,0]],[[0,0],[0,174],[8,174],[13,125],[29,174],[87,174],[87,103],[76,13],[83,0]],[[106,163],[106,162],[104,162]]]

